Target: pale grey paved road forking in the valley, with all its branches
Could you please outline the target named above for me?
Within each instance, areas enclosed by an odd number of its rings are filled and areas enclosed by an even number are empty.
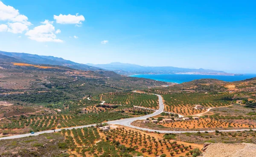
[[[135,120],[143,120],[143,119],[147,119],[151,116],[157,116],[158,114],[162,113],[164,110],[164,105],[163,105],[163,99],[162,96],[155,94],[158,96],[159,98],[159,109],[156,110],[154,113],[152,114],[148,114],[145,116],[140,116],[140,117],[134,117],[134,118],[127,118],[127,119],[120,119],[120,120],[114,120],[114,121],[109,121],[109,124],[118,124],[118,125],[123,125],[123,126],[128,126],[131,128],[137,128],[140,130],[145,130],[145,131],[157,131],[160,133],[185,133],[185,132],[198,132],[198,131],[162,131],[162,130],[152,130],[152,129],[147,129],[147,128],[140,128],[140,127],[136,127],[131,125],[131,122],[134,122]],[[93,124],[93,126],[95,126],[96,124]],[[83,125],[83,126],[76,126],[76,127],[70,127],[70,128],[65,128],[65,129],[73,129],[73,128],[84,128],[84,127],[88,127],[88,126],[92,126],[92,125]],[[244,129],[244,130],[248,130],[248,129]],[[244,131],[244,130],[220,130],[220,131]],[[256,129],[253,129],[256,130]],[[56,129],[57,131],[61,131],[61,129]],[[29,137],[29,136],[36,136],[39,134],[44,134],[44,133],[52,133],[54,132],[53,130],[48,130],[48,131],[40,131],[40,132],[36,132],[35,134],[21,134],[21,135],[15,135],[15,136],[9,136],[9,137],[1,137],[0,140],[4,140],[4,139],[15,139],[15,138],[21,138],[21,137]],[[208,132],[215,132],[215,131],[208,131]]]

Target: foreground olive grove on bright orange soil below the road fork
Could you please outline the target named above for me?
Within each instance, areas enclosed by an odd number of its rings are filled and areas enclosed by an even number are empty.
[[[166,157],[166,156],[189,156],[197,152],[201,154],[199,149],[192,148],[191,145],[184,145],[172,140],[172,134],[165,134],[164,139],[151,135],[146,135],[134,130],[126,130],[125,128],[116,128],[105,132],[106,139],[109,141],[124,145],[139,151],[148,157]]]

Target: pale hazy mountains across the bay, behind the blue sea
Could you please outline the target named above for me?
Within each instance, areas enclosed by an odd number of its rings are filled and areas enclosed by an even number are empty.
[[[133,74],[199,74],[199,75],[233,75],[224,71],[206,69],[187,69],[179,67],[145,67],[136,64],[114,62],[110,64],[87,64],[94,67],[111,70],[123,75]]]

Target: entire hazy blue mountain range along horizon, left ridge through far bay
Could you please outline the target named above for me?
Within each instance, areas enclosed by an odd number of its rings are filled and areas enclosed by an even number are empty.
[[[54,56],[33,55],[29,53],[0,51],[1,62],[16,62],[27,64],[49,64],[70,67],[80,70],[110,70],[122,75],[135,74],[198,74],[198,75],[234,75],[224,71],[206,69],[188,69],[179,67],[145,67],[136,64],[113,62],[110,64],[79,64]]]

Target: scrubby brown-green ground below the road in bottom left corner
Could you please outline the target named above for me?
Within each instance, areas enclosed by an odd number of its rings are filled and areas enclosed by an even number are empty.
[[[52,137],[52,139],[46,137]],[[58,157],[63,151],[67,151],[67,148],[58,147],[58,143],[64,140],[61,134],[56,133],[1,140],[0,155],[1,157]]]

